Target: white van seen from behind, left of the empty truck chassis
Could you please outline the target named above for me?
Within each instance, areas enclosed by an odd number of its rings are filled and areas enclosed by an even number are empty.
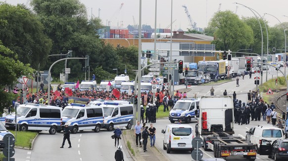
[[[193,128],[190,125],[171,124],[162,129],[164,134],[163,149],[170,153],[171,150],[194,150],[192,147]]]

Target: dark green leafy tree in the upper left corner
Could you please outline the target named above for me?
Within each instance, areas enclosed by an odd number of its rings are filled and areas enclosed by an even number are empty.
[[[0,3],[0,40],[4,46],[14,53],[24,64],[31,64],[36,68],[40,63],[43,66],[51,50],[51,40],[43,32],[44,26],[35,14],[24,5],[13,6]]]

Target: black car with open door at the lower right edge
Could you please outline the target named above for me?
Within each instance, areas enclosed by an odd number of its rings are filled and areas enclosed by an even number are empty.
[[[288,159],[288,139],[277,139],[272,144],[270,141],[262,139],[260,155],[268,155],[268,158],[274,158],[274,161]]]

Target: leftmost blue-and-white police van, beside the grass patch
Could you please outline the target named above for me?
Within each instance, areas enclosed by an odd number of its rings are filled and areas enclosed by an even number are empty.
[[[15,128],[17,125],[20,131],[49,130],[50,134],[55,134],[57,130],[61,130],[61,107],[25,103],[17,107],[16,114],[17,123],[15,123],[14,112],[6,116],[5,127]]]

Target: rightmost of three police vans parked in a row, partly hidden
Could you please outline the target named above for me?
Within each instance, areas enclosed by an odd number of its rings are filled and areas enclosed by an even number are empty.
[[[133,124],[133,104],[122,104],[117,102],[104,102],[104,129],[111,131],[114,126],[131,129]]]

